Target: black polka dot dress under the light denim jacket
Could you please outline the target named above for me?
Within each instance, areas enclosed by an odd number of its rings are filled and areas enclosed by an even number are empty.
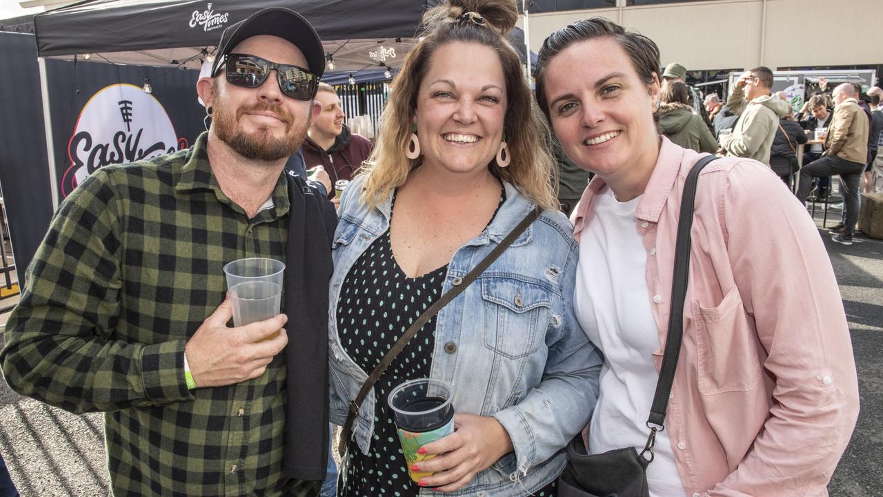
[[[502,202],[505,200],[503,196]],[[393,199],[395,204],[395,198]],[[494,213],[495,214],[495,213]],[[448,272],[444,265],[418,278],[408,278],[396,264],[389,230],[374,241],[347,274],[337,301],[337,333],[343,349],[364,371],[374,371],[381,358],[420,314],[441,296]],[[409,379],[428,378],[435,346],[435,317],[405,345],[374,385],[374,434],[371,454],[349,442],[341,464],[337,495],[341,497],[419,494],[411,481],[399,445],[387,397]],[[535,495],[551,497],[547,486]]]

